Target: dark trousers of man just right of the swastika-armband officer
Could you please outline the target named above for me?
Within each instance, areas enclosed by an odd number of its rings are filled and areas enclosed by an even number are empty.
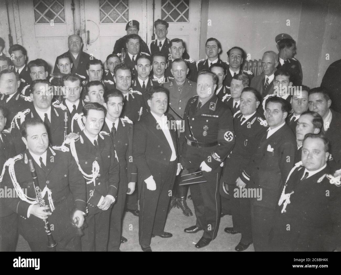
[[[235,188],[239,189],[236,185],[228,185],[231,194],[233,229],[241,233],[240,242],[248,244],[252,242],[250,198],[235,198]]]

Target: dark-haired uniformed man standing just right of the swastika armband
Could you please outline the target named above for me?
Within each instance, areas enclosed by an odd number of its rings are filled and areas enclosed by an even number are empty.
[[[224,231],[228,234],[241,233],[240,242],[235,247],[236,251],[246,250],[252,243],[250,198],[242,198],[235,194],[238,191],[239,194],[242,192],[242,188],[239,190],[236,188],[236,179],[254,153],[255,143],[258,142],[256,136],[266,131],[266,126],[262,124],[263,119],[257,113],[261,100],[261,95],[255,89],[246,87],[242,90],[240,113],[234,117],[234,129],[238,138],[226,158],[223,182],[219,188],[221,196],[230,199],[232,210],[233,227],[226,227]]]

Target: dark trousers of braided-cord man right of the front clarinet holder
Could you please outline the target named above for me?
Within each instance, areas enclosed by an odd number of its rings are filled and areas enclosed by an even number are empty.
[[[109,208],[85,217],[87,227],[81,237],[82,251],[107,251],[110,212]]]

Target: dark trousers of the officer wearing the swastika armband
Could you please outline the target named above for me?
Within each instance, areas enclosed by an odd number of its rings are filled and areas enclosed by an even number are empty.
[[[196,169],[189,169],[189,173]],[[220,221],[220,194],[219,173],[204,172],[206,183],[192,184],[190,186],[196,226],[204,229],[204,237],[214,239],[217,237]]]

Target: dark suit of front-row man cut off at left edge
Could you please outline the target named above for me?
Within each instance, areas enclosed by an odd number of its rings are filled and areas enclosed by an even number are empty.
[[[5,161],[15,155],[14,140],[11,133],[2,131],[0,133],[1,171]],[[2,185],[1,188],[3,188]],[[0,251],[15,251],[18,241],[18,216],[17,213],[3,205],[3,200],[0,198]]]

